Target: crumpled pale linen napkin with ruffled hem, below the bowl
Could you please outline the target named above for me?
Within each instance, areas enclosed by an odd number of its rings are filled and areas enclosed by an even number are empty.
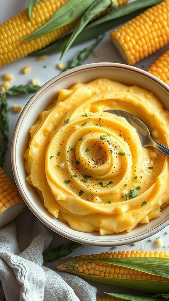
[[[51,240],[28,208],[0,229],[0,301],[96,301],[96,287],[43,265]]]

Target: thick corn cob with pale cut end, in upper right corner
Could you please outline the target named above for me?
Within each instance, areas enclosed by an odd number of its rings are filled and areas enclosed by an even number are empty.
[[[110,33],[123,60],[130,65],[169,43],[169,0],[148,8]]]

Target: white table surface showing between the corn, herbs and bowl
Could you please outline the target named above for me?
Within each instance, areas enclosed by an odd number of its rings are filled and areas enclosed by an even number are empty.
[[[9,17],[17,14],[18,12],[22,11],[24,8],[28,6],[28,0],[0,0],[0,23],[7,20]],[[109,38],[108,31],[104,38],[102,39],[101,43],[97,46],[95,51],[98,52],[98,57],[94,57],[92,54],[88,59],[84,62],[84,64],[88,63],[95,63],[95,62],[118,62],[124,63],[119,56],[117,50],[113,47],[110,38]],[[87,42],[83,45],[76,46],[74,48],[69,49],[66,55],[61,60],[62,62],[68,62],[73,55],[78,54],[78,52],[83,49],[84,47],[91,45],[93,41]],[[155,54],[149,56],[148,58],[138,62],[135,64],[136,67],[146,70],[147,67],[152,64],[155,59],[162,54],[169,46],[165,46],[164,48],[160,49]],[[10,86],[13,85],[20,85],[20,84],[29,84],[32,78],[38,78],[43,85],[52,77],[56,76],[60,73],[60,70],[57,69],[57,63],[59,62],[60,54],[52,54],[48,56],[45,61],[37,61],[36,57],[25,57],[20,59],[19,61],[15,61],[11,64],[8,64],[4,67],[0,68],[0,85],[3,82],[3,74],[5,72],[9,72],[13,75],[14,79],[10,82]],[[25,66],[30,66],[31,71],[27,74],[22,74],[21,70]],[[44,67],[46,66],[46,67]],[[8,97],[8,106],[9,106],[9,145],[8,151],[6,153],[6,159],[3,166],[3,169],[8,174],[8,176],[14,181],[12,168],[11,168],[11,140],[12,135],[14,132],[14,127],[19,117],[19,113],[14,113],[12,111],[12,104],[22,104],[23,106],[27,103],[31,95],[24,95],[18,97]],[[26,208],[26,210],[29,210]],[[22,213],[21,213],[22,214]],[[51,247],[57,247],[61,244],[68,244],[70,241],[66,238],[61,237],[60,235],[53,232],[53,241],[51,243]],[[161,237],[163,241],[162,247],[157,247],[155,244],[155,240],[157,237]],[[120,247],[116,247],[115,251],[118,250],[169,250],[169,226],[161,230],[158,234],[149,237],[149,239],[141,240],[134,245],[124,245]],[[49,249],[50,249],[49,248]],[[105,251],[111,251],[111,247],[95,247],[95,246],[86,246],[83,245],[76,249],[72,255],[80,255],[80,254],[91,254],[91,253],[100,253]],[[55,269],[56,262],[46,263],[46,265],[52,269]],[[90,282],[91,283],[91,282]],[[92,282],[92,285],[98,287],[99,295],[102,296],[104,291],[115,291],[121,292],[121,288],[112,287],[110,290],[110,286],[101,283]],[[128,290],[130,291],[130,290]],[[125,290],[126,292],[126,290]]]

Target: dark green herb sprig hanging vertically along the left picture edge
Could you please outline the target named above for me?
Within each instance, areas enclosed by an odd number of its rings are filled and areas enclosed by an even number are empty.
[[[0,95],[0,166],[2,167],[5,161],[5,153],[8,147],[9,116],[6,93],[0,93]]]

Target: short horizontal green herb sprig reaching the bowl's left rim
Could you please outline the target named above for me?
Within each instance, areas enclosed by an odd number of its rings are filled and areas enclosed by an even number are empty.
[[[13,86],[6,90],[6,94],[14,96],[14,95],[20,95],[20,94],[35,93],[36,91],[38,91],[39,88],[40,88],[40,86],[33,86],[33,85]]]

